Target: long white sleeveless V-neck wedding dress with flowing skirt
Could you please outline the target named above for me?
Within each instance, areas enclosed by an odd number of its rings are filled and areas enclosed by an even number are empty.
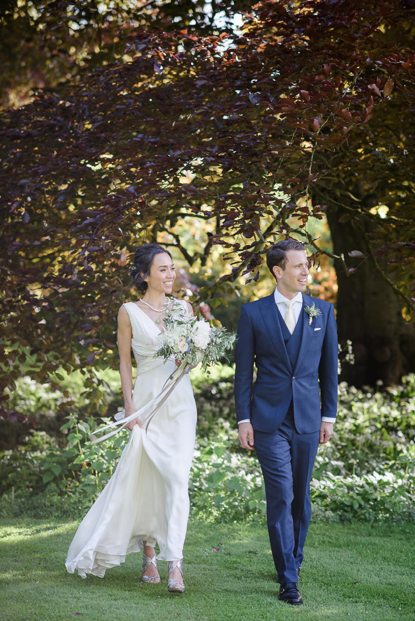
[[[181,302],[187,312],[186,302]],[[161,391],[175,371],[174,360],[154,358],[159,328],[134,302],[127,302],[137,362],[133,405],[136,410]],[[78,527],[65,566],[104,577],[139,552],[143,540],[159,545],[157,558],[183,557],[189,518],[189,472],[195,444],[196,406],[189,375],[177,384],[148,431],[134,425],[118,466]],[[121,433],[126,433],[122,431]]]

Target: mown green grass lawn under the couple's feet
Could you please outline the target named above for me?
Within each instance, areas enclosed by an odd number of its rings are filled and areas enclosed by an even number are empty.
[[[191,522],[184,595],[142,584],[141,556],[104,579],[65,571],[77,525],[0,520],[2,621],[399,621],[415,619],[415,524],[312,524],[300,590],[305,605],[277,601],[266,527]],[[220,548],[215,551],[213,548]]]

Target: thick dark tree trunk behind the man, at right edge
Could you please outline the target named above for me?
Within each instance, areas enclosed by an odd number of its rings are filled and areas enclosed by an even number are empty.
[[[345,214],[341,207],[327,211],[333,252],[344,254],[348,265],[357,267],[362,260],[348,258],[347,253],[368,253],[363,235],[353,225],[356,220],[339,222]],[[379,263],[386,269],[386,263]],[[375,270],[370,257],[351,275],[340,261],[335,269],[338,341],[343,347],[351,340],[355,357],[353,365],[343,363],[340,379],[353,386],[375,386],[379,380],[386,386],[399,383],[404,374],[415,371],[415,331],[402,317],[402,300]]]

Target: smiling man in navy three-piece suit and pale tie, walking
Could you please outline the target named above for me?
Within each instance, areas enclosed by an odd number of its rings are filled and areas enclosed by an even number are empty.
[[[299,605],[310,478],[337,414],[337,329],[333,305],[302,293],[309,261],[301,243],[274,244],[266,262],[275,291],[241,309],[236,418],[241,446],[255,447],[263,471],[279,599]]]

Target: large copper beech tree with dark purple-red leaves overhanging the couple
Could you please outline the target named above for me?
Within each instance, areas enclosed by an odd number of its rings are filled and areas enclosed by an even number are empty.
[[[113,61],[108,25],[105,62],[1,114],[3,391],[22,368],[58,383],[60,366],[85,369],[93,391],[93,368],[116,364],[137,243],[174,244],[202,268],[225,248],[225,275],[200,290],[215,306],[241,275],[254,294],[278,238],[318,262],[307,223],[324,215],[339,336],[355,348],[346,379],[399,381],[415,357],[412,3],[263,1],[240,30],[238,2],[222,25],[189,20],[188,2],[176,22],[153,4],[117,22]],[[195,251],[184,217],[208,230]]]

